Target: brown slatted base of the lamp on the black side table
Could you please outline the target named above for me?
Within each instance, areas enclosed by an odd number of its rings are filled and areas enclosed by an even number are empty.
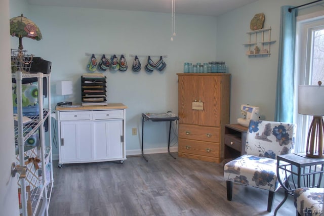
[[[324,122],[322,116],[313,116],[307,137],[306,156],[324,158]]]

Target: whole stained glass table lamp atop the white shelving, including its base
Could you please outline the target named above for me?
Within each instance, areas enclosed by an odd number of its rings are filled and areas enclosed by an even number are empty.
[[[31,20],[27,19],[21,14],[21,16],[19,17],[14,17],[10,19],[10,35],[19,38],[17,59],[14,59],[17,61],[16,65],[18,66],[18,70],[22,72],[29,72],[24,70],[24,65],[25,66],[30,65],[32,61],[32,56],[30,56],[29,59],[24,58],[25,55],[23,52],[22,38],[29,37],[31,39],[41,40],[42,39],[41,31],[39,30],[39,28],[35,23],[33,23]]]

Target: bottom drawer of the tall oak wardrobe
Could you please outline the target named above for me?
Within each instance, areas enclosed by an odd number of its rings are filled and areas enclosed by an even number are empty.
[[[179,152],[219,157],[219,143],[179,139]]]

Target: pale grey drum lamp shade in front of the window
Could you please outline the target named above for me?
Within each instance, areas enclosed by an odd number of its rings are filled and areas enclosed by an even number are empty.
[[[324,116],[324,86],[298,86],[298,113]]]

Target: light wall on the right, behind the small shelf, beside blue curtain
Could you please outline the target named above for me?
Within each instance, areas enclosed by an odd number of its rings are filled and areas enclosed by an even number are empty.
[[[263,119],[274,120],[275,94],[278,64],[280,7],[299,6],[309,1],[296,0],[260,0],[253,4],[217,17],[216,57],[226,60],[231,79],[230,122],[236,123],[241,104],[258,105]],[[303,15],[323,10],[322,6],[311,5],[298,9]],[[257,13],[265,14],[264,28],[271,27],[269,57],[249,57],[246,44],[250,30],[250,21]],[[257,46],[261,46],[258,44]]]

